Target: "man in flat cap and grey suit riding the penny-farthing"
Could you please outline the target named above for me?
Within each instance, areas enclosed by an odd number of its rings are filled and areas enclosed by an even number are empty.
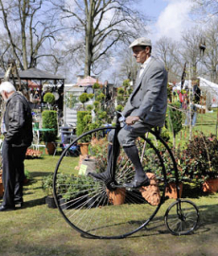
[[[164,125],[167,110],[167,71],[162,63],[151,56],[152,43],[147,38],[138,38],[130,46],[136,62],[141,64],[137,72],[136,84],[122,114],[126,118],[126,126],[118,133],[119,144],[133,162],[136,174],[125,186],[139,188],[150,184],[148,176],[141,165],[136,137],[143,136],[152,127]],[[109,156],[110,158],[109,149]],[[109,168],[101,174],[91,174],[97,179],[109,181]]]

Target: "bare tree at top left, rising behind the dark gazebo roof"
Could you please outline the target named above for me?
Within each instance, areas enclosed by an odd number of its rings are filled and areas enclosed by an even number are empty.
[[[36,66],[45,56],[57,61],[45,47],[62,29],[49,4],[47,0],[0,0],[0,18],[7,31],[9,50],[21,69]]]

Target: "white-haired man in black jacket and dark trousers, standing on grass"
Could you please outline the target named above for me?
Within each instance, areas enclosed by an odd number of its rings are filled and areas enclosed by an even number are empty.
[[[6,101],[2,119],[2,148],[4,196],[0,211],[14,210],[23,204],[24,160],[32,141],[32,116],[26,98],[10,82],[0,84]]]

